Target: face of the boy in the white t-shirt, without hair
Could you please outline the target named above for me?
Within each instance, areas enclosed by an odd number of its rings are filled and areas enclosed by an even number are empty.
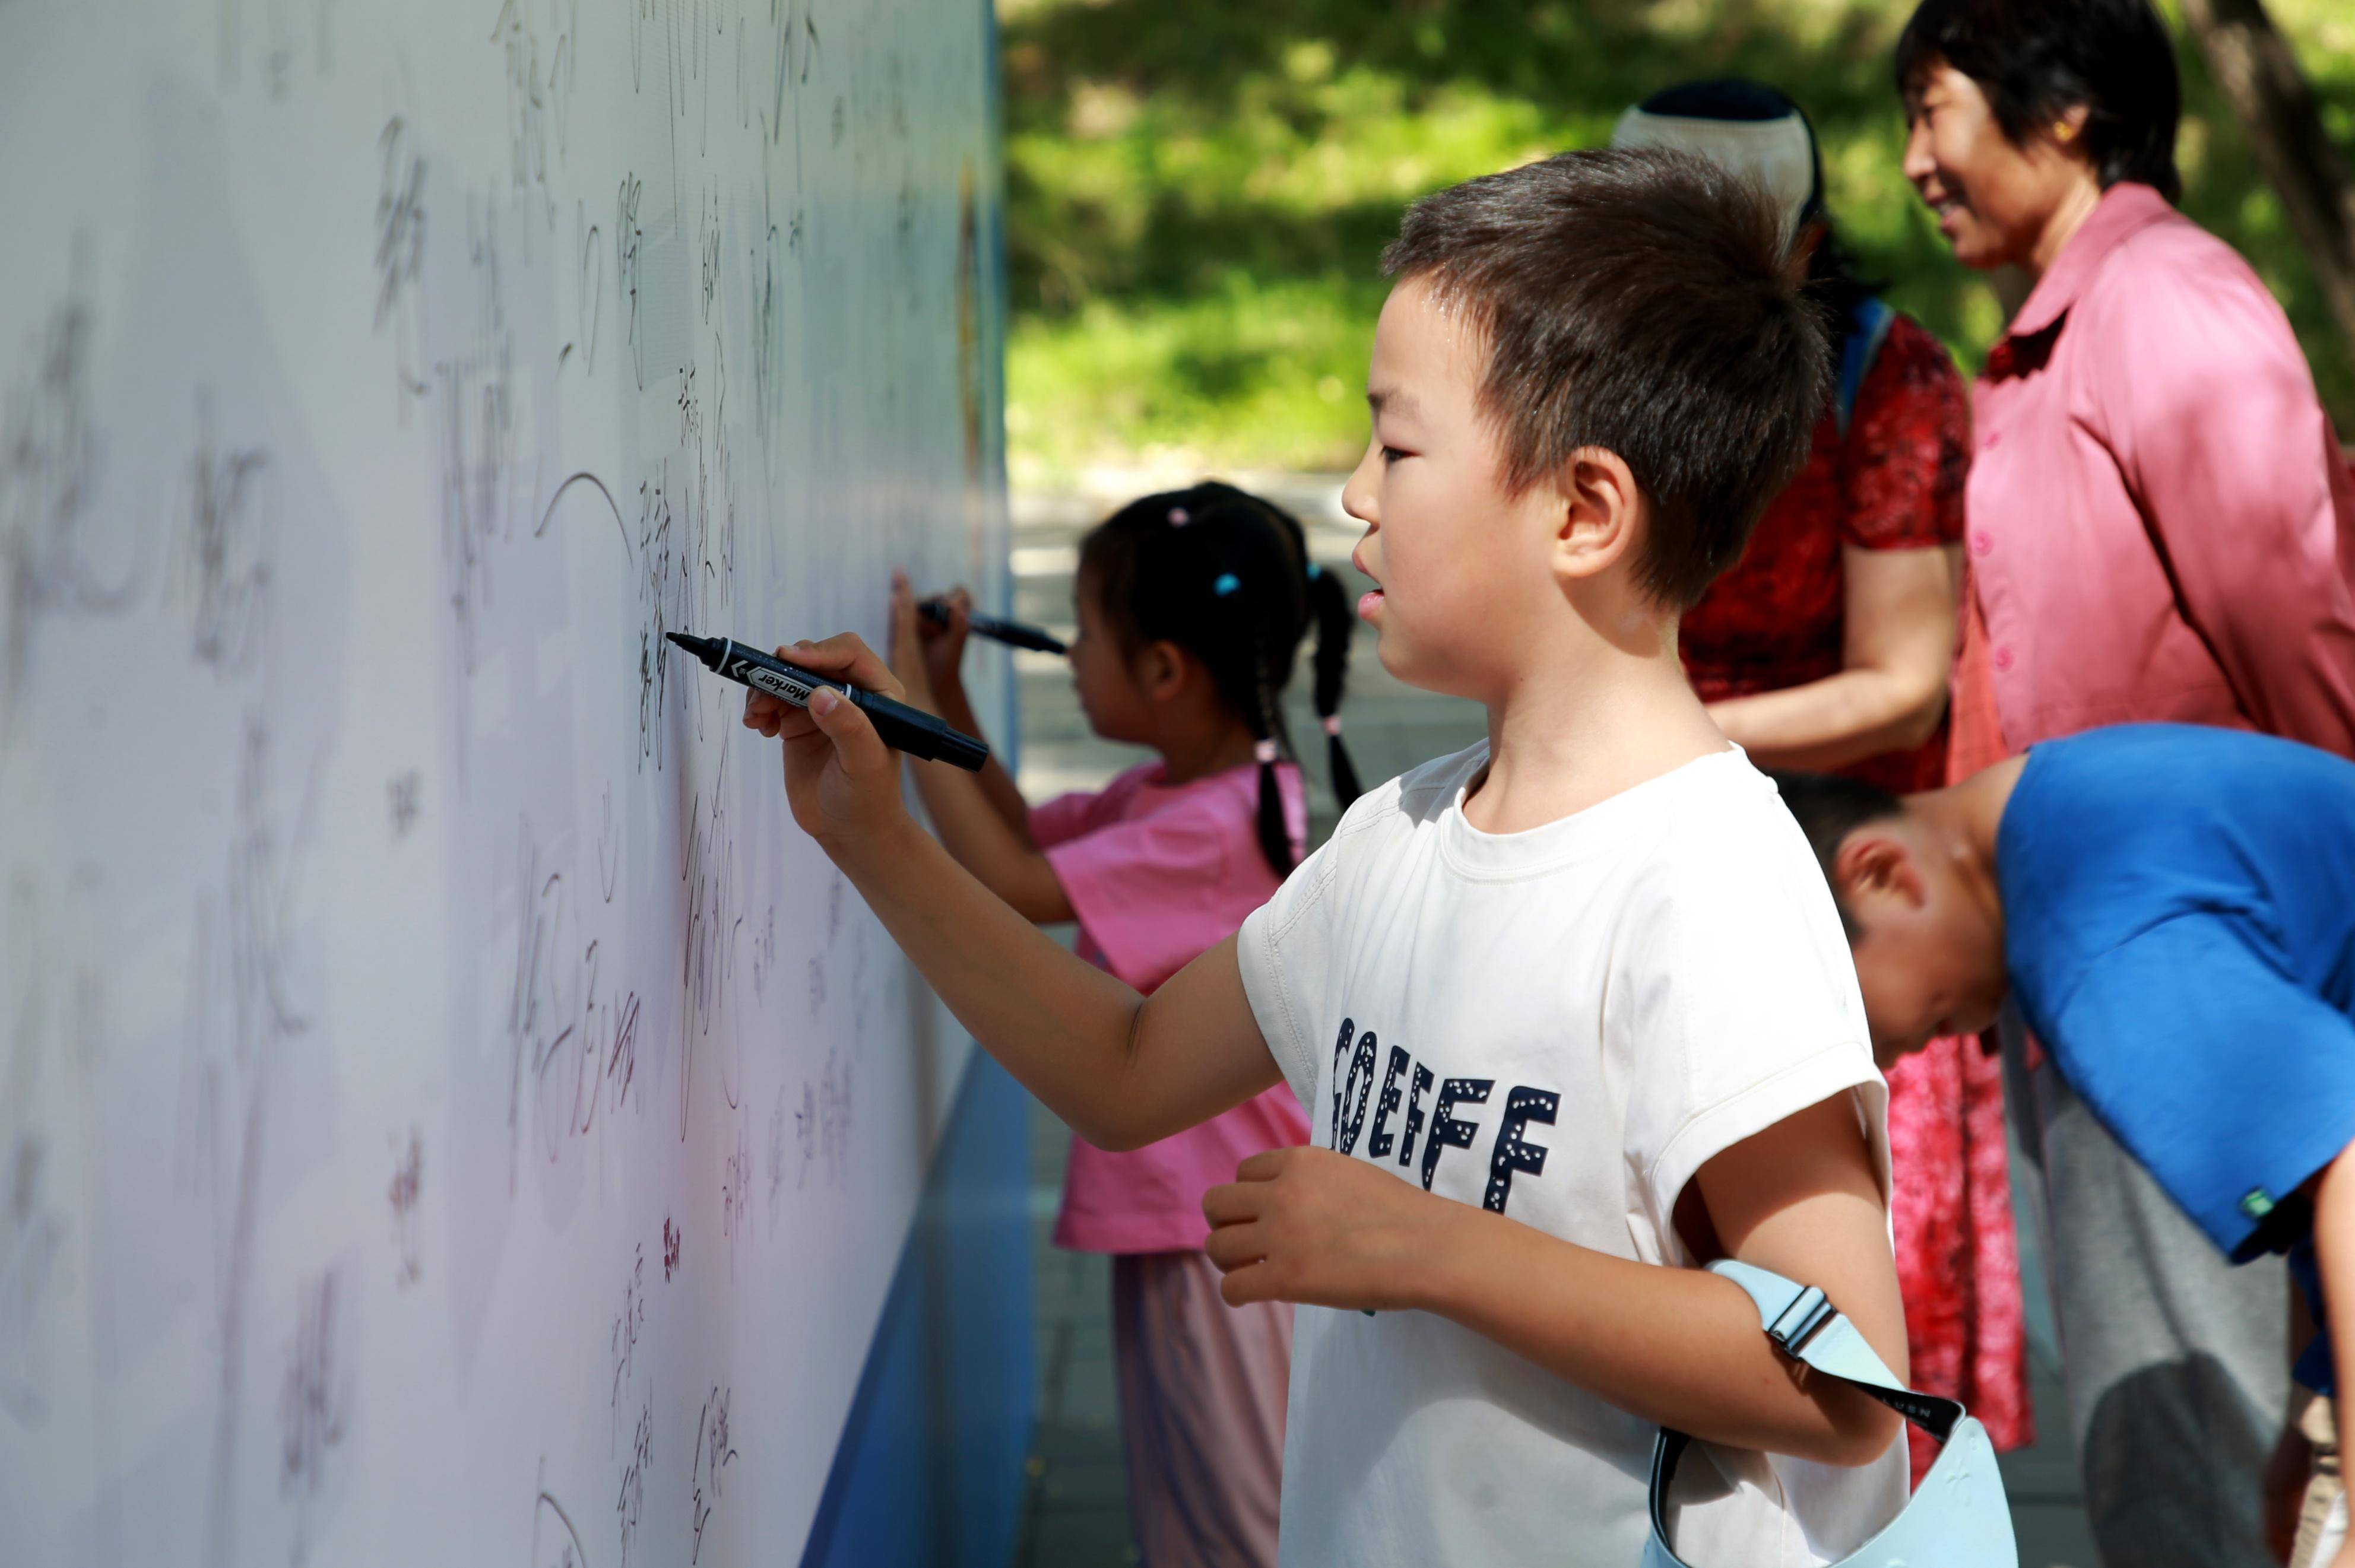
[[[1389,292],[1373,332],[1373,440],[1342,490],[1366,525],[1352,560],[1375,582],[1359,614],[1382,666],[1411,685],[1491,699],[1526,659],[1526,629],[1559,593],[1547,549],[1559,497],[1500,487],[1502,445],[1479,407],[1488,346],[1422,278]],[[1517,659],[1519,655],[1519,659]]]

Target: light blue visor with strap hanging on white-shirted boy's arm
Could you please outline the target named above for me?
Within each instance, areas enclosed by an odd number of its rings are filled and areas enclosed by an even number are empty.
[[[1823,1373],[1839,1377],[1882,1401],[1945,1443],[1922,1490],[1879,1535],[1835,1568],[1851,1563],[1971,1563],[1973,1568],[2014,1568],[2018,1552],[2011,1537],[2011,1514],[2004,1504],[1995,1450],[1985,1429],[1952,1398],[1917,1394],[1889,1370],[1856,1326],[1813,1285],[1797,1285],[1780,1274],[1724,1257],[1710,1264],[1740,1285],[1759,1309],[1759,1328],[1776,1347]],[[1644,1568],[1681,1568],[1667,1530],[1667,1490],[1677,1479],[1677,1460],[1693,1439],[1660,1429],[1651,1450],[1651,1540]],[[1948,1486],[1933,1488],[1931,1479]],[[1929,1500],[1926,1507],[1924,1500]],[[1943,1511],[1943,1514],[1941,1514]]]

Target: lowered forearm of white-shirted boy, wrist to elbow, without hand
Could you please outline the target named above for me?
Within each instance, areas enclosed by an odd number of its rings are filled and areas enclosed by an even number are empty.
[[[1868,1464],[1893,1441],[1896,1413],[1783,1358],[1733,1281],[1451,1208],[1439,1255],[1420,1271],[1427,1311],[1707,1443]]]

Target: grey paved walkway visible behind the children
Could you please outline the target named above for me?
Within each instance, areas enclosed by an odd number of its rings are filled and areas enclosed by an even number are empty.
[[[1328,570],[1349,574],[1356,525],[1338,506],[1331,476],[1234,476],[1291,506],[1309,525],[1309,551]],[[1083,494],[1015,499],[1015,614],[1069,629],[1072,567],[1079,534],[1121,501],[1149,490],[1180,487],[1192,476],[1102,476]],[[1069,636],[1069,631],[1064,631]],[[1069,673],[1050,655],[1015,655],[1022,685],[1022,793],[1031,800],[1062,789],[1090,789],[1137,760],[1137,751],[1095,739],[1072,699]],[[1331,829],[1324,796],[1321,746],[1309,749],[1316,723],[1307,709],[1307,657],[1293,680],[1291,725],[1309,753],[1314,831]],[[1479,709],[1432,697],[1392,680],[1361,636],[1349,659],[1347,737],[1359,775],[1387,779],[1406,768],[1479,739]],[[1069,1130],[1043,1107],[1031,1107],[1031,1238],[1039,1297],[1039,1434],[1031,1443],[1029,1500],[1015,1547],[1015,1568],[1109,1568],[1140,1561],[1128,1537],[1128,1490],[1121,1474],[1121,1427],[1114,1403],[1109,1271],[1102,1257],[1057,1253],[1048,1245],[1062,1191]],[[2030,1241],[2023,1229],[2023,1243]],[[2023,1253],[2032,1248],[2023,1245]],[[2091,1535],[2068,1457],[2068,1422],[2058,1387],[2051,1314],[2044,1309],[2042,1269],[2030,1271],[2030,1366],[2044,1441],[2004,1455],[2004,1486],[2021,1537],[2023,1568],[2096,1568]]]

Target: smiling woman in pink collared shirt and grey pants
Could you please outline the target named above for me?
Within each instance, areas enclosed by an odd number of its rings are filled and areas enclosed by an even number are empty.
[[[1955,257],[2032,280],[1973,393],[1955,777],[2129,720],[2355,756],[2355,483],[2282,308],[2171,205],[2178,80],[2148,0],[1924,0],[1896,78],[1905,174]],[[2016,1045],[2105,1561],[2277,1561],[2280,1267],[2225,1271]]]

